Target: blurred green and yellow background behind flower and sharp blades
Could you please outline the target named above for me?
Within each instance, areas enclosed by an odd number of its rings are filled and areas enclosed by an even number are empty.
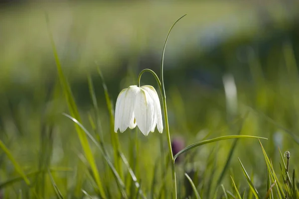
[[[159,74],[166,34],[178,17],[187,14],[171,32],[164,60],[174,149],[224,135],[262,136],[268,138],[261,141],[279,176],[278,147],[282,153],[291,152],[290,170],[299,171],[298,10],[295,0],[1,1],[0,140],[21,170],[30,174],[30,185],[1,150],[0,198],[55,198],[53,182],[68,199],[87,197],[82,190],[101,197],[74,123],[61,114],[69,110],[45,12],[82,123],[97,137],[93,121],[99,119],[112,162],[109,111],[97,67],[114,107],[119,92],[136,85],[142,69]],[[237,88],[238,102],[230,105],[225,77],[233,77]],[[143,75],[142,84],[157,89],[150,74]],[[143,193],[170,198],[170,168],[163,170],[166,134],[145,137],[134,129],[117,136]],[[103,155],[89,143],[107,198],[120,198]],[[223,197],[221,184],[233,193],[230,175],[240,192],[246,190],[250,197],[238,158],[264,196],[267,170],[259,142],[240,139],[203,145],[177,159],[178,198],[194,197],[184,172],[203,199]],[[129,198],[134,199],[136,189],[123,163],[122,172]]]

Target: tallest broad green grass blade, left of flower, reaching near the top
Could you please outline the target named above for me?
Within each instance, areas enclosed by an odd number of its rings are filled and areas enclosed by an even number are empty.
[[[62,67],[60,65],[58,53],[57,53],[54,38],[53,38],[51,29],[50,29],[50,22],[49,22],[49,18],[48,18],[47,14],[46,14],[46,23],[47,23],[48,34],[49,34],[50,42],[52,45],[53,55],[54,55],[54,59],[55,59],[55,63],[56,63],[57,71],[58,71],[59,82],[60,82],[62,90],[64,92],[64,96],[65,96],[67,105],[69,107],[70,114],[72,115],[72,117],[76,118],[78,121],[81,121],[77,105],[75,103],[75,100],[74,100],[72,92],[71,92],[71,88],[63,74]],[[96,179],[100,195],[102,196],[102,198],[106,199],[107,197],[105,195],[102,181],[100,179],[100,174],[97,169],[96,161],[94,159],[93,153],[90,149],[88,139],[87,139],[85,133],[79,128],[79,126],[76,123],[75,123],[75,128],[76,128],[81,146],[84,150],[85,156],[89,162],[89,165],[93,171],[93,175]]]

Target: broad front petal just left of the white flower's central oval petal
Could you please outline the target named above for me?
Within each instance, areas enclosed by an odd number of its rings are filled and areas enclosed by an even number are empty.
[[[124,132],[128,126],[133,127],[132,121],[134,121],[134,104],[137,93],[139,93],[140,88],[137,86],[130,86],[125,94],[122,108],[122,119],[120,123],[120,131]],[[136,126],[136,125],[135,125]],[[134,127],[135,127],[134,126]]]

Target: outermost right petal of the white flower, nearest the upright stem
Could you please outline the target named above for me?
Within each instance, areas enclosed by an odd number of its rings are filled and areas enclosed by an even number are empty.
[[[161,104],[160,104],[160,100],[158,97],[157,92],[155,91],[155,89],[152,86],[143,86],[142,88],[146,89],[152,99],[153,99],[153,103],[154,103],[154,115],[155,115],[155,123],[153,124],[153,129],[155,127],[155,125],[157,125],[157,129],[159,131],[159,133],[163,132],[163,120],[162,120],[162,112],[161,112]]]

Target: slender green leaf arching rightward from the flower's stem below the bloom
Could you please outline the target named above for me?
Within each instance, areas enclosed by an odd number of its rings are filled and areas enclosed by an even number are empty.
[[[204,144],[208,144],[208,143],[212,143],[212,142],[217,142],[220,140],[227,140],[227,139],[234,139],[234,138],[256,138],[256,139],[267,139],[264,137],[257,137],[257,136],[250,136],[250,135],[226,135],[226,136],[222,136],[222,137],[217,137],[217,138],[213,138],[213,139],[209,139],[209,140],[204,140],[204,141],[200,141],[200,142],[196,142],[194,144],[191,144],[189,146],[187,146],[186,148],[182,149],[181,151],[179,151],[177,154],[175,154],[174,159],[177,158],[177,156],[179,156],[182,153],[185,153],[195,147],[204,145]]]

